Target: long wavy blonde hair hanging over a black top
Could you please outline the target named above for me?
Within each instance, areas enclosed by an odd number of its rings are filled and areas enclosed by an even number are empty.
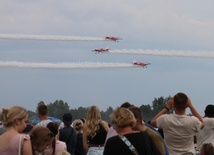
[[[101,115],[99,108],[97,106],[91,106],[87,111],[86,117],[87,135],[89,137],[93,138],[96,135],[100,122]]]

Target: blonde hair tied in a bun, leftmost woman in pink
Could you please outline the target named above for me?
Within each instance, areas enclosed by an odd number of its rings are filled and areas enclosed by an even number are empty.
[[[12,127],[17,119],[23,119],[28,116],[25,108],[13,106],[10,109],[2,108],[1,121],[4,127]]]

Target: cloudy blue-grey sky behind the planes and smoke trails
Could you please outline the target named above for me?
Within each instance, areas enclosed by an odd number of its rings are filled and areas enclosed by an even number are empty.
[[[40,101],[63,100],[72,109],[97,105],[106,110],[126,101],[151,105],[155,98],[184,92],[203,115],[206,105],[213,104],[213,6],[211,0],[1,0],[0,64],[26,66],[0,65],[0,107],[20,105],[35,111]],[[5,34],[98,39],[1,39]],[[105,41],[107,35],[122,40]],[[110,48],[110,54],[92,52],[101,47]],[[153,54],[146,55],[146,50]],[[177,56],[180,53],[182,57]],[[195,53],[201,56],[195,58]],[[151,65],[28,67],[28,63],[131,65],[133,60]]]

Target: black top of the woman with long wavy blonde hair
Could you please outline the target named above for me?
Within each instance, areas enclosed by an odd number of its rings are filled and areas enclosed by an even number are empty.
[[[106,140],[106,135],[107,135],[107,131],[104,129],[104,127],[102,126],[102,124],[99,124],[99,129],[96,132],[96,135],[91,138],[91,137],[87,137],[89,145],[90,144],[97,144],[97,145],[101,145],[105,143]]]

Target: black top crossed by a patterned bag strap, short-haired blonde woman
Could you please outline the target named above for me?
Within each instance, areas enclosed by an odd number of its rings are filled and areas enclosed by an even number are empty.
[[[130,133],[124,135],[138,151],[139,155],[160,155],[155,144],[146,132]],[[129,147],[119,136],[107,140],[103,155],[133,155]]]

